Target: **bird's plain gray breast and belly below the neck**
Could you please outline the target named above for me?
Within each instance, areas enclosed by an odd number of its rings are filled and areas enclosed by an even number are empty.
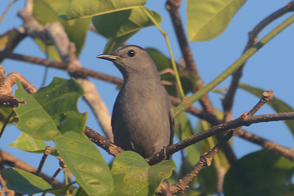
[[[160,84],[162,85],[162,84]],[[171,101],[163,85],[121,89],[113,108],[114,143],[144,158],[170,144]],[[163,88],[163,89],[162,89]]]

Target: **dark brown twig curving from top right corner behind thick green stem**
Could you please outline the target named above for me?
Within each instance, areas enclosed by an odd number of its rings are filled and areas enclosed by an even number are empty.
[[[249,32],[249,40],[247,42],[247,45],[244,49],[244,52],[251,48],[255,42],[257,41],[257,35],[272,21],[276,20],[277,18],[283,16],[284,14],[294,11],[294,1],[290,1],[286,6],[282,7],[281,9],[277,10],[276,12],[272,13],[270,16],[262,20],[258,25],[256,25],[252,31]],[[244,53],[243,52],[243,53]],[[242,71],[245,66],[245,63],[236,70],[232,76],[232,81],[229,87],[229,90],[225,97],[222,99],[222,107],[224,112],[224,118],[223,122],[227,122],[232,120],[232,107],[234,102],[234,97],[236,94],[236,90],[239,85],[240,78],[242,76]]]

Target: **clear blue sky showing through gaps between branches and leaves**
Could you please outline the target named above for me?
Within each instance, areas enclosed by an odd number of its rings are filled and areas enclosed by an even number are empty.
[[[0,14],[3,13],[9,2],[10,0],[3,0],[1,2]],[[236,59],[238,59],[245,48],[248,39],[248,32],[261,20],[277,9],[285,6],[288,2],[289,0],[247,0],[245,5],[239,12],[237,12],[231,21],[231,24],[220,37],[208,42],[190,43],[196,64],[198,66],[198,71],[201,74],[203,81],[205,83],[209,83],[222,71],[229,67]],[[23,7],[24,0],[18,0],[10,8],[7,15],[0,23],[0,34],[13,27],[18,28],[22,25],[21,19],[17,17],[17,11]],[[178,60],[181,53],[172,28],[169,13],[165,9],[165,1],[149,0],[147,1],[146,7],[161,14],[163,18],[161,27],[168,33],[174,57]],[[186,1],[183,0],[180,7],[180,13],[184,27],[186,26],[185,10]],[[268,32],[270,32],[270,30],[279,25],[292,14],[293,13],[287,14],[271,23],[260,33],[259,38],[265,36]],[[269,44],[254,54],[245,66],[241,82],[264,90],[273,90],[275,97],[284,100],[294,108],[293,32],[294,25],[291,25],[271,40]],[[79,60],[84,68],[122,77],[119,70],[117,70],[111,62],[96,59],[96,56],[103,52],[106,42],[107,40],[105,38],[97,36],[93,32],[88,32],[85,46],[80,54]],[[165,55],[169,56],[165,39],[160,34],[159,30],[154,26],[140,30],[131,39],[129,39],[127,43],[139,45],[143,48],[156,48],[162,51]],[[43,54],[34,41],[28,37],[20,43],[14,52],[45,58],[45,54]],[[2,62],[2,66],[4,67],[6,74],[10,72],[21,73],[37,88],[39,88],[42,83],[45,70],[43,66],[32,65],[14,60],[4,60]],[[52,81],[53,76],[69,78],[68,74],[64,71],[49,69],[46,85]],[[97,86],[98,92],[111,112],[113,103],[118,94],[116,86],[96,79],[91,79],[91,81],[93,81]],[[222,82],[217,88],[227,87],[230,81],[231,77]],[[213,105],[221,110],[221,95],[216,93],[209,93],[208,95],[211,98]],[[238,90],[233,110],[234,118],[238,118],[239,115],[249,111],[258,100],[259,98],[246,93],[243,90]],[[198,106],[197,103],[196,106]],[[93,117],[90,108],[82,101],[79,101],[78,107],[80,112],[89,112],[87,125],[94,130],[99,131],[99,125]],[[270,113],[274,113],[274,111],[267,105],[263,106],[260,111],[257,112],[257,114]],[[197,118],[191,117],[191,122],[195,126]],[[294,137],[283,122],[254,124],[249,127],[245,127],[245,130],[285,147],[294,148]],[[6,145],[11,144],[19,134],[20,131],[14,125],[8,126],[1,138],[0,149],[13,154],[14,156],[20,157],[25,162],[37,167],[42,155],[30,154],[15,148],[6,147]],[[260,149],[260,147],[252,145],[242,139],[234,137],[233,140],[233,149],[235,150],[238,158]],[[53,143],[51,143],[51,145],[53,145]],[[111,160],[111,156],[107,155],[103,152],[103,150],[101,150],[101,152],[107,161]],[[173,158],[176,160],[178,155],[173,156]],[[56,168],[52,168],[52,164],[56,164]],[[50,157],[44,165],[44,171],[50,175],[50,173],[57,169],[57,164],[58,161],[55,158]]]

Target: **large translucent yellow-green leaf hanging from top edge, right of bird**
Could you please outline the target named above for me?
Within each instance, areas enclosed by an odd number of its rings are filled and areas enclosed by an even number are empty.
[[[187,0],[187,31],[191,42],[221,35],[246,0]]]

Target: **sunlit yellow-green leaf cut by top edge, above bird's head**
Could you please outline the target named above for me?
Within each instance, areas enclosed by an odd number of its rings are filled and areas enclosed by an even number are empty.
[[[138,8],[145,3],[146,0],[72,0],[68,7],[60,13],[60,17],[64,20],[87,18]]]

